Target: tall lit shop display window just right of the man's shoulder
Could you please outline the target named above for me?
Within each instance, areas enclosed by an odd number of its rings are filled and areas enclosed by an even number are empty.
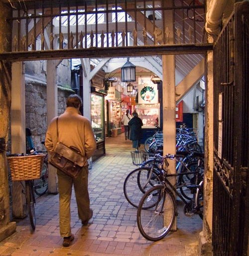
[[[101,95],[91,95],[91,118],[96,141],[104,140],[104,97]]]

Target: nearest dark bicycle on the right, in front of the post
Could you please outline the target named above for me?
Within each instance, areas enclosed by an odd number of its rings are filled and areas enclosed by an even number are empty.
[[[176,216],[176,196],[184,203],[186,216],[198,214],[203,218],[203,180],[199,184],[192,184],[188,187],[192,190],[192,200],[187,202],[170,183],[169,177],[176,177],[181,174],[168,174],[167,159],[175,159],[175,155],[166,155],[164,158],[163,181],[149,189],[143,195],[137,209],[137,226],[141,235],[149,241],[158,241],[164,238],[172,228]],[[199,177],[196,175],[195,183]]]

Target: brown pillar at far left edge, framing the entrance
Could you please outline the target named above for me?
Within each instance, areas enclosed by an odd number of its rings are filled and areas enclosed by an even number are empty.
[[[11,17],[11,9],[0,2],[0,52],[9,50],[11,36],[10,23],[6,19]],[[0,241],[15,232],[15,222],[9,220],[9,191],[8,169],[5,155],[4,141],[8,140],[9,113],[11,102],[11,64],[0,61]]]

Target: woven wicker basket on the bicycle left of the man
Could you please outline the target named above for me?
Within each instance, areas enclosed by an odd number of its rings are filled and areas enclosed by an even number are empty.
[[[44,154],[7,157],[12,181],[39,179]]]

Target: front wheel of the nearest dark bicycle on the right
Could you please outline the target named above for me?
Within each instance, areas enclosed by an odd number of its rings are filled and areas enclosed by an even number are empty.
[[[145,210],[147,205],[154,205]],[[170,231],[175,220],[175,199],[163,185],[148,190],[137,209],[137,226],[141,235],[149,241],[158,241]]]

